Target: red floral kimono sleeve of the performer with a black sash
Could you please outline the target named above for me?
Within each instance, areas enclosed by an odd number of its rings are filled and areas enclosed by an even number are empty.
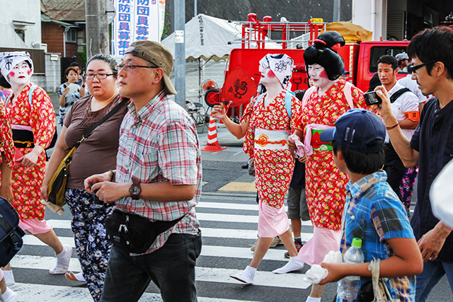
[[[33,91],[30,126],[33,129],[35,145],[47,148],[55,133],[55,110],[49,95],[40,87]]]

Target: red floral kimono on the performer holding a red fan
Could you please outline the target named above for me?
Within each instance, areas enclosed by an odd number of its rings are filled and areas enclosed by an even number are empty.
[[[291,182],[294,157],[289,150],[255,150],[255,129],[294,129],[294,117],[297,116],[302,103],[297,98],[292,98],[292,119],[289,120],[285,108],[285,91],[282,91],[267,108],[264,108],[264,98],[253,108],[255,101],[256,98],[251,100],[241,117],[241,123],[249,123],[243,151],[253,158],[255,163],[258,198],[270,207],[280,208]]]

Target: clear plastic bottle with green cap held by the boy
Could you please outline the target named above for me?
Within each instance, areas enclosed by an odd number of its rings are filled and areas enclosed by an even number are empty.
[[[362,252],[362,239],[354,238],[352,246],[345,252],[343,257],[345,263],[363,263],[364,257]],[[360,277],[347,276],[338,281],[337,295],[338,298],[352,301],[357,298],[359,291]]]

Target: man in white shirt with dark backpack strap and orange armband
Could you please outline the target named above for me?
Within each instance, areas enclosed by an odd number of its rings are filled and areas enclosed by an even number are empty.
[[[384,86],[390,95],[391,112],[396,117],[396,120],[398,120],[403,134],[408,139],[411,139],[414,129],[418,126],[418,119],[420,117],[417,96],[396,81],[398,61],[394,57],[390,55],[380,57],[377,61],[377,74],[379,75],[382,86]],[[406,167],[391,145],[389,134],[386,134],[385,144],[384,170],[387,173],[387,182],[389,182],[391,188],[399,196],[398,188],[406,172]]]

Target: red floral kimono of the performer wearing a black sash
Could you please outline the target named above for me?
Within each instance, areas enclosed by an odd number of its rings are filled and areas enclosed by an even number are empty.
[[[13,104],[13,95],[6,105],[9,122],[32,128],[34,144],[44,148],[50,145],[55,133],[55,111],[49,95],[40,87],[33,91],[32,103],[28,103],[28,93],[33,83],[28,83]],[[18,148],[24,155],[33,148]],[[32,168],[14,165],[12,168],[13,202],[21,219],[44,219],[45,208],[40,202],[42,180],[45,175],[45,152]]]

